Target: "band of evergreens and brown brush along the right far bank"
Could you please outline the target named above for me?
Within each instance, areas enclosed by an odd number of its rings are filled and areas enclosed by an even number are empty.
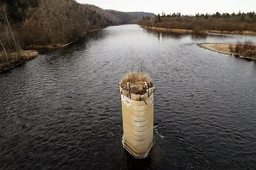
[[[154,17],[143,17],[138,22],[147,27],[159,27],[168,29],[189,29],[195,32],[200,31],[227,31],[227,32],[256,32],[255,12],[238,12],[215,14],[181,15],[178,13],[166,15],[158,14]]]

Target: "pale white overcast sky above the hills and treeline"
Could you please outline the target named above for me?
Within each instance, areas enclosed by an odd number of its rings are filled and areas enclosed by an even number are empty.
[[[89,3],[103,8],[104,10],[117,10],[123,12],[143,11],[153,12],[154,14],[172,14],[174,12],[181,12],[181,14],[192,14],[196,12],[213,14],[215,12],[250,12],[256,11],[256,0],[212,0],[212,1],[199,1],[199,0],[176,0],[176,1],[163,1],[163,0],[76,0],[79,3]]]

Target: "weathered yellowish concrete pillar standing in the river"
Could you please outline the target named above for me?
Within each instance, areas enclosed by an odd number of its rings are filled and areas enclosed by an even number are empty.
[[[126,87],[122,87],[122,84],[121,81],[123,147],[136,158],[145,158],[153,145],[155,88],[151,82],[143,82],[143,79],[127,82]]]

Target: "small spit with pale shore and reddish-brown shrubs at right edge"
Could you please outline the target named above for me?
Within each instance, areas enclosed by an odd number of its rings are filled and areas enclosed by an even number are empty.
[[[256,45],[251,41],[237,42],[236,44],[200,43],[197,45],[213,52],[232,54],[234,56],[256,60]]]

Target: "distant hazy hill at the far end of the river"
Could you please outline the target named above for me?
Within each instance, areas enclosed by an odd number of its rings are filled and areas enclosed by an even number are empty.
[[[121,12],[115,10],[105,10],[108,11],[110,14],[117,16],[121,19],[122,24],[130,24],[133,20],[142,19],[143,16],[155,16],[155,14],[150,12]]]

